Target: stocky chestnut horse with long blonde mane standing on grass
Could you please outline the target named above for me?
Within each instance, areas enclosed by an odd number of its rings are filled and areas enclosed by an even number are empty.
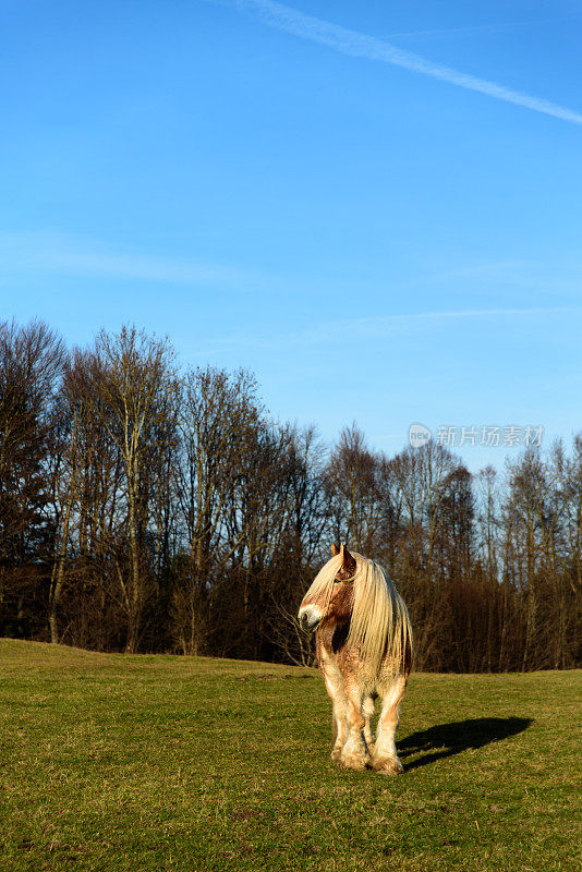
[[[332,545],[331,553],[299,609],[300,625],[315,632],[317,663],[334,705],[331,760],[345,770],[372,766],[397,775],[403,766],[395,734],[413,653],[407,606],[377,562],[344,545]]]

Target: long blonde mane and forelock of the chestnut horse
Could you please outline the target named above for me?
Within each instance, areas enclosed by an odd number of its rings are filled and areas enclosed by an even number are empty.
[[[356,569],[347,645],[357,649],[364,666],[377,673],[387,667],[404,671],[407,649],[412,656],[412,627],[404,602],[381,567],[361,554],[351,552]],[[334,580],[342,558],[332,557],[314,579],[305,600],[325,597],[329,605]]]

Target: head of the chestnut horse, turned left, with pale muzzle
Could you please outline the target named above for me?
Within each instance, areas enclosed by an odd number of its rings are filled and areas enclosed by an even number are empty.
[[[340,548],[332,545],[331,553],[334,557],[322,569],[299,609],[302,627],[312,632],[322,623],[344,623],[352,610],[356,561],[343,545]]]

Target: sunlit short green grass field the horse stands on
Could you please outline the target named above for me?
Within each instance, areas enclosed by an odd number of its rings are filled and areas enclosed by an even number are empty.
[[[581,671],[413,675],[385,777],[331,764],[314,670],[16,641],[0,661],[3,872],[579,868]]]

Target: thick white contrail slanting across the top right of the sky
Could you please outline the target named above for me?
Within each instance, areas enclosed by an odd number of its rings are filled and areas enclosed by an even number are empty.
[[[210,1],[216,2],[217,0]],[[476,90],[488,97],[496,97],[498,100],[533,109],[534,112],[553,116],[562,121],[571,121],[573,124],[582,124],[582,113],[565,106],[558,106],[555,102],[549,102],[549,100],[532,97],[519,90],[511,90],[504,85],[498,85],[486,78],[477,78],[468,73],[461,73],[440,63],[434,63],[420,55],[396,48],[396,46],[391,46],[383,39],[366,36],[356,31],[349,31],[345,27],[316,19],[313,15],[305,15],[283,5],[283,3],[276,2],[276,0],[229,0],[228,4],[235,5],[241,10],[255,12],[257,17],[269,27],[286,31],[302,39],[320,43],[336,51],[341,51],[343,55],[350,55],[352,58],[366,58],[367,60],[391,63],[405,70],[412,70],[415,73],[429,75],[433,78],[440,78],[442,82],[458,85],[461,88]]]

